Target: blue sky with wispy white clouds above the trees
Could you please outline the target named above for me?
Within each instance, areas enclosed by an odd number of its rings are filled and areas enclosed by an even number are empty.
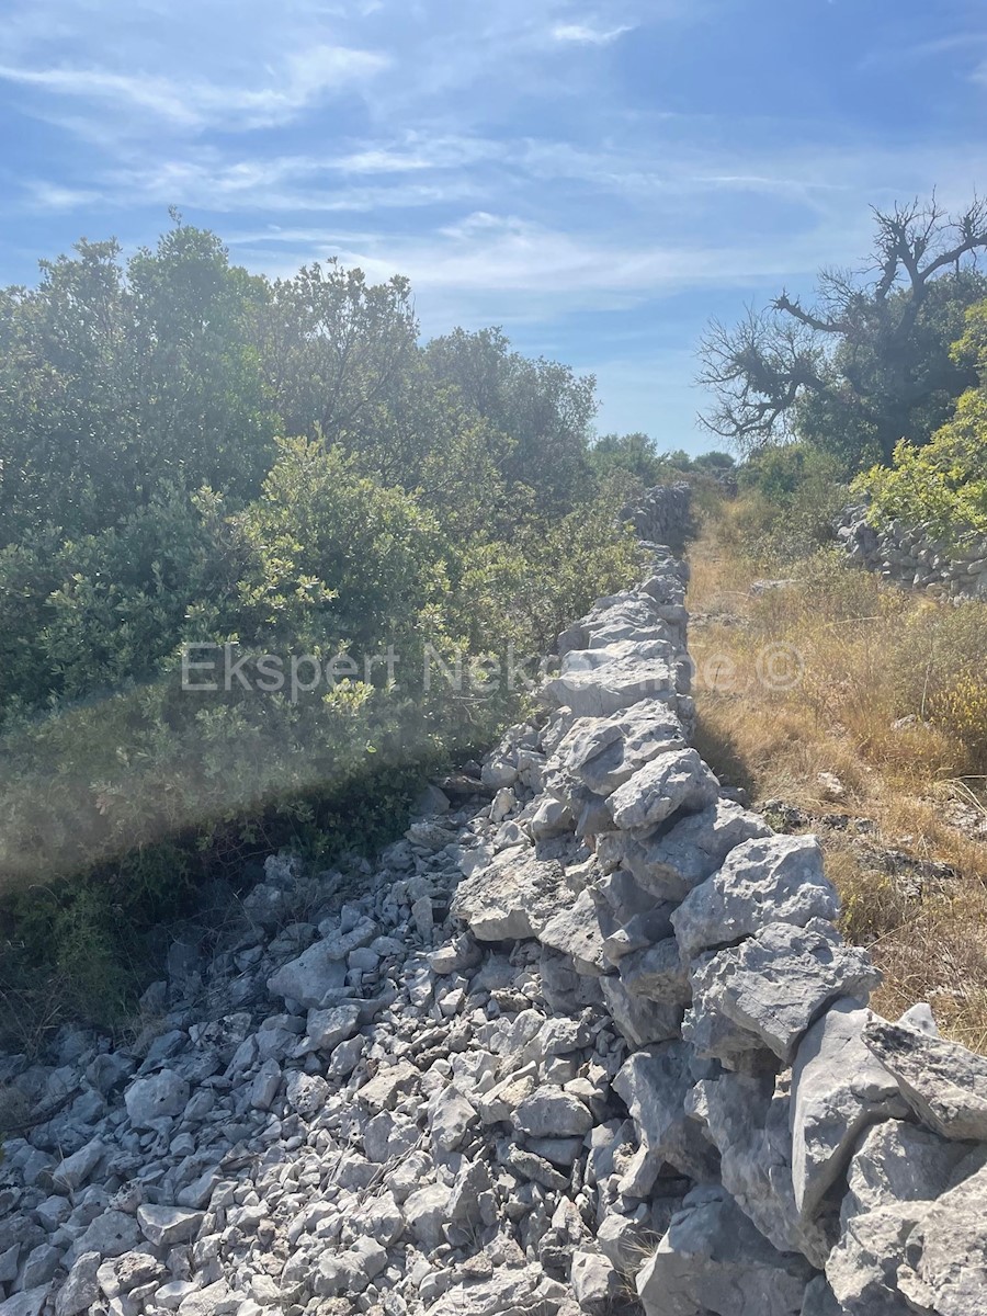
[[[0,282],[176,205],[233,258],[413,282],[711,446],[705,320],[987,176],[983,0],[4,0]]]

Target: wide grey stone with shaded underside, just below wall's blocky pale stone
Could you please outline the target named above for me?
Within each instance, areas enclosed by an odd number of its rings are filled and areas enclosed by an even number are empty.
[[[790,1065],[803,1034],[838,996],[866,1000],[880,975],[821,919],[772,923],[740,946],[700,957],[683,1037],[729,1067],[766,1048]]]

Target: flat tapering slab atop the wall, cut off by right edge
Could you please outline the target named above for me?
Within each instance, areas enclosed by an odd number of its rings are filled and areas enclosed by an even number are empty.
[[[923,1124],[944,1138],[987,1140],[987,1059],[882,1019],[865,1026],[863,1041]]]

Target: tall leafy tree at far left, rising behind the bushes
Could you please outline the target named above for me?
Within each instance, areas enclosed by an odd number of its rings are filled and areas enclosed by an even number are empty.
[[[164,486],[246,501],[274,457],[265,282],[182,224],[126,266],[116,242],[75,251],[0,293],[0,544],[96,533]]]

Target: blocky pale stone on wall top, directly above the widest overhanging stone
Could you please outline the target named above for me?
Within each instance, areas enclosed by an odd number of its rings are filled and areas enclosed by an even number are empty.
[[[683,959],[730,946],[770,923],[804,928],[832,920],[837,896],[812,836],[771,836],[736,846],[719,873],[691,891],[671,916]]]

